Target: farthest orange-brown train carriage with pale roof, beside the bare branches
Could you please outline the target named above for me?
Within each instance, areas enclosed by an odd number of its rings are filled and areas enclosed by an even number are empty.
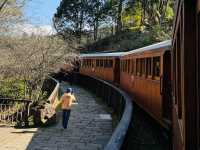
[[[123,52],[82,54],[80,73],[119,84],[120,59]]]

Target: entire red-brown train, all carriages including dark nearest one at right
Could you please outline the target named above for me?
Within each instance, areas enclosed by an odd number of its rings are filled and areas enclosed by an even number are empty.
[[[200,0],[176,0],[172,41],[82,54],[80,73],[127,91],[170,130],[173,150],[200,150]]]

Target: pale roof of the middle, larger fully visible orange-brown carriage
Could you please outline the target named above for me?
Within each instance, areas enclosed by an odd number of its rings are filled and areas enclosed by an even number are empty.
[[[172,40],[166,40],[163,42],[159,42],[156,44],[152,44],[149,46],[145,46],[142,48],[138,48],[138,49],[134,49],[134,50],[125,52],[122,54],[122,56],[130,55],[130,54],[134,54],[134,53],[141,53],[141,52],[145,52],[145,51],[157,50],[160,48],[163,48],[164,50],[169,50],[169,49],[171,49],[171,44],[172,44]]]

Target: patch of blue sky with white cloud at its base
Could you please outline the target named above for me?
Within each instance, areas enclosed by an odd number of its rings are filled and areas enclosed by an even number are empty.
[[[50,35],[55,34],[52,17],[60,0],[27,0],[23,8],[25,22],[16,25],[14,34],[17,35]]]

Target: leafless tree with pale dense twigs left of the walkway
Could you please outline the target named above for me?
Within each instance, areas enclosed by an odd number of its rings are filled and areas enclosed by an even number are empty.
[[[3,37],[0,73],[3,80],[23,81],[25,98],[38,100],[44,80],[64,65],[72,68],[77,54],[57,36]]]

